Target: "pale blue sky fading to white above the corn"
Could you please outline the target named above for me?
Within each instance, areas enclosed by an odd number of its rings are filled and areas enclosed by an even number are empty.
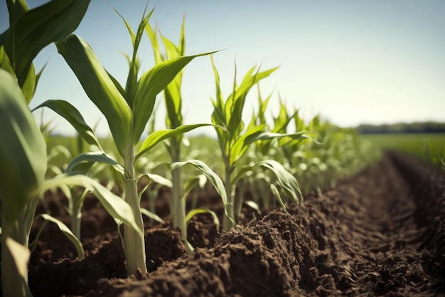
[[[45,1],[28,0],[35,7]],[[146,1],[109,0],[136,30]],[[279,99],[289,112],[297,108],[309,120],[320,114],[342,127],[363,123],[445,121],[445,1],[443,0],[150,0],[150,24],[175,43],[186,16],[186,54],[213,55],[223,95],[252,67],[278,70],[259,84],[272,93],[269,119],[279,111]],[[0,31],[8,24],[0,3]],[[104,0],[92,0],[75,33],[95,51],[104,68],[124,85],[128,65],[122,53],[132,53],[122,19]],[[144,35],[139,57],[142,71],[154,66],[149,38]],[[63,99],[80,110],[97,134],[108,135],[106,120],[85,95],[75,75],[53,44],[43,49],[36,69],[47,66],[31,108],[48,99]],[[183,74],[184,123],[210,123],[215,97],[210,57],[195,58]],[[162,100],[161,96],[159,100]],[[250,120],[256,90],[247,100]],[[40,121],[41,112],[35,113]],[[55,132],[75,130],[50,110]],[[156,127],[165,127],[161,102]],[[197,133],[212,134],[212,128]]]

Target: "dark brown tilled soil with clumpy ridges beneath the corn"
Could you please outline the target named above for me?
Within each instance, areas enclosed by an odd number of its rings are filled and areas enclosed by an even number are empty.
[[[252,189],[254,190],[254,189]],[[31,254],[34,296],[445,296],[445,172],[395,152],[301,206],[248,207],[236,229],[210,217],[188,225],[188,256],[168,224],[145,222],[149,273],[127,278],[114,220],[95,197],[82,211],[85,259],[48,224]],[[168,219],[168,190],[156,212]],[[146,199],[143,198],[143,203]],[[69,225],[65,199],[47,194],[38,212]],[[218,195],[198,205],[222,214]],[[35,222],[31,234],[36,236]]]

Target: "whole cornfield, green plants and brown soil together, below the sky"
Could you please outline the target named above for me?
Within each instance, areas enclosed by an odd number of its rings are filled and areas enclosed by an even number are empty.
[[[303,118],[259,88],[278,67],[227,78],[218,52],[186,56],[184,21],[175,43],[149,9],[137,30],[114,9],[132,45],[122,83],[73,34],[90,0],[6,4],[0,296],[444,296],[444,135],[422,135],[417,150],[419,135],[365,137]],[[45,75],[33,60],[51,44],[108,137],[79,102],[31,103]],[[213,110],[185,124],[183,69],[198,59],[213,72]],[[55,134],[38,110],[76,136]]]

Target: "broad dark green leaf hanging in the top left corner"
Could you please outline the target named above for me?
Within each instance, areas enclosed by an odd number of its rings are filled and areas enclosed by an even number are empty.
[[[37,54],[48,44],[72,33],[89,4],[90,0],[53,0],[18,12],[20,17],[4,33],[4,48],[21,87]]]

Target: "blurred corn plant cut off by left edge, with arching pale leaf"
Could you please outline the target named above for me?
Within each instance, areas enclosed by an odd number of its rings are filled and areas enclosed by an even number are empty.
[[[136,230],[132,211],[127,203],[84,175],[60,175],[45,180],[45,140],[26,99],[12,75],[0,69],[0,124],[4,142],[0,144],[0,219],[1,219],[1,280],[4,296],[31,296],[26,265],[29,251],[16,253],[17,246],[28,249],[31,225],[38,197],[53,187],[82,186],[91,189],[112,217]],[[80,256],[82,246],[74,234],[61,222],[58,224],[73,241]],[[21,264],[18,265],[18,264]],[[26,273],[25,273],[26,272]]]

